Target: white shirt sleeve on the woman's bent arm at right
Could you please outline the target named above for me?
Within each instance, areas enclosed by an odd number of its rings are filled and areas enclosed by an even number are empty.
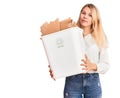
[[[99,53],[99,63],[97,63],[97,72],[104,74],[110,68],[107,48],[103,48]]]

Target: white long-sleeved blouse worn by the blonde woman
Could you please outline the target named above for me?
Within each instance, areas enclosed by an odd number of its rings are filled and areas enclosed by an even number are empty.
[[[88,71],[88,73],[107,72],[110,67],[107,48],[99,48],[91,34],[86,35],[84,41],[88,59],[97,65],[97,71]]]

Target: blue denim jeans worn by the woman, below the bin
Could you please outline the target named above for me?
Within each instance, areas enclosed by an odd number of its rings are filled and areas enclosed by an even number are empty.
[[[98,73],[66,77],[64,98],[102,98]]]

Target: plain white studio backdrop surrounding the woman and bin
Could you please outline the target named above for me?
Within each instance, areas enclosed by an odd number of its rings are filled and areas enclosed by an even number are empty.
[[[119,23],[117,0],[0,1],[0,98],[63,98],[64,78],[49,75],[40,26],[56,18],[77,21],[81,7],[95,4],[109,40],[111,68],[101,75],[103,98],[119,98]]]

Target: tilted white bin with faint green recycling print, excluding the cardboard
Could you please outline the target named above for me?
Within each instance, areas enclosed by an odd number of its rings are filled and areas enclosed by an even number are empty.
[[[41,36],[54,78],[83,73],[80,66],[84,59],[83,30],[72,27]]]

